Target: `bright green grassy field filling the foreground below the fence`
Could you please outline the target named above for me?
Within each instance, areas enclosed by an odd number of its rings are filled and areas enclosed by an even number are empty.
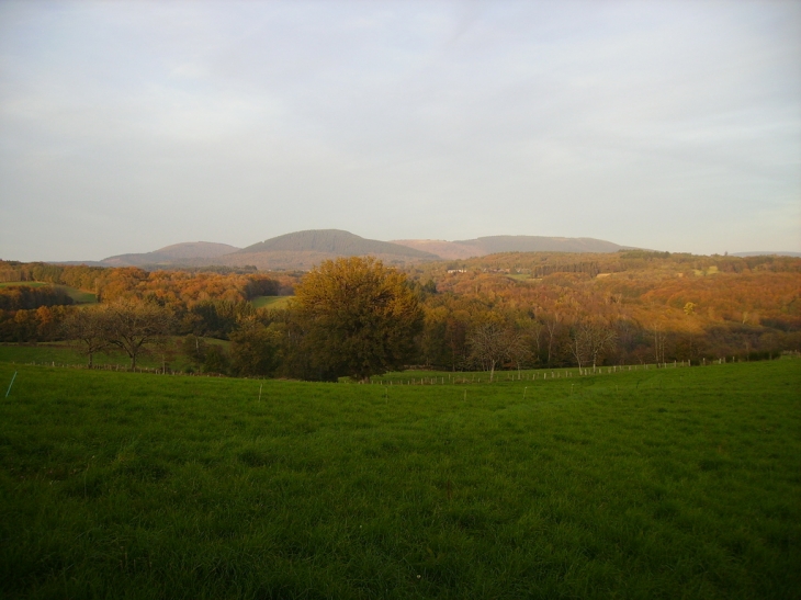
[[[0,362],[3,598],[797,598],[801,361],[487,385]]]

